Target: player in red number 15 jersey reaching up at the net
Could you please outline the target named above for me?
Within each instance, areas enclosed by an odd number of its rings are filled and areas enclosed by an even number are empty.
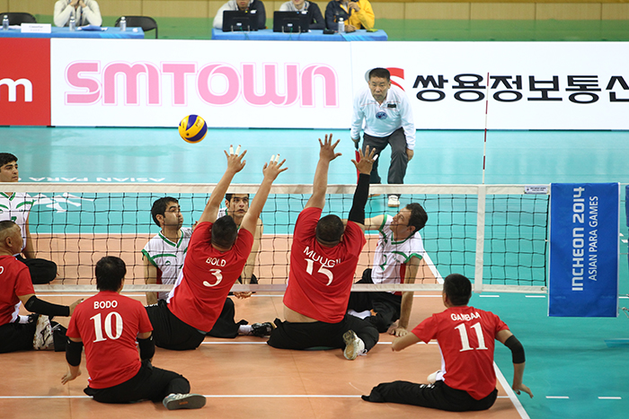
[[[330,161],[338,140],[325,135],[319,162],[314,172],[313,195],[299,214],[290,248],[288,288],[284,295],[284,319],[275,320],[277,328],[268,344],[280,349],[312,347],[342,348],[354,360],[377,344],[378,332],[368,321],[346,315],[360,252],[365,246],[365,204],[369,195],[369,173],[374,152],[360,152],[359,184],[354,193],[346,226],[336,215],[320,219],[325,205]]]

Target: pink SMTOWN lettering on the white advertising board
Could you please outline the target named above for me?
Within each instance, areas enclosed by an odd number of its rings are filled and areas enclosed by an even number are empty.
[[[198,68],[196,63],[164,62],[109,62],[75,61],[66,67],[66,104],[162,106],[162,90],[172,89],[172,105],[186,106],[189,95],[211,106],[226,106],[244,100],[252,106],[289,107],[315,106],[316,98],[323,98],[319,106],[339,106],[338,75],[324,64],[306,65],[264,63],[261,74],[255,63],[242,63],[240,70],[226,63],[210,63]],[[283,68],[282,68],[283,67]],[[280,72],[283,71],[283,74]],[[260,76],[261,75],[261,76]],[[225,86],[213,89],[213,81]],[[317,94],[318,93],[318,94]],[[146,97],[141,98],[144,94]],[[119,98],[119,96],[122,96]],[[120,99],[120,100],[119,100]]]

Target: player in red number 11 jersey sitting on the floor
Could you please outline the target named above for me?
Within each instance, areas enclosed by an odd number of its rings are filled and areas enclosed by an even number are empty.
[[[513,385],[520,394],[533,397],[522,383],[524,348],[502,320],[491,311],[467,305],[472,284],[464,275],[447,275],[443,283],[443,304],[447,310],[425,319],[412,332],[394,340],[391,349],[401,351],[420,341],[437,339],[441,370],[430,374],[430,384],[394,381],[379,384],[364,400],[377,403],[402,403],[432,407],[451,412],[486,410],[498,396],[493,370],[494,341],[511,350]]]

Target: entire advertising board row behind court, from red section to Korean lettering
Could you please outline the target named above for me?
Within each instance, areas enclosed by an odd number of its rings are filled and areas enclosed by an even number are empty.
[[[629,42],[2,39],[2,48],[3,125],[175,127],[199,114],[210,127],[347,129],[365,73],[383,66],[417,129],[629,129]]]

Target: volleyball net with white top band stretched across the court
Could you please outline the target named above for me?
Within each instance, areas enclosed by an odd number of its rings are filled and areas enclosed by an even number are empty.
[[[30,230],[38,258],[58,264],[58,279],[37,291],[93,292],[93,268],[103,256],[127,264],[126,292],[167,291],[172,285],[145,284],[141,250],[160,231],[151,217],[153,202],[164,196],[179,201],[183,226],[199,219],[214,185],[15,183],[31,207]],[[253,194],[258,185],[233,184],[230,193]],[[324,214],[347,218],[355,185],[330,185]],[[426,258],[415,284],[386,285],[395,291],[440,291],[443,277],[466,275],[475,292],[546,292],[549,188],[518,185],[374,185],[366,216],[396,214],[386,194],[402,194],[402,206],[420,203],[429,215],[421,238]],[[274,185],[261,220],[254,274],[258,285],[235,285],[234,291],[283,291],[288,281],[289,249],[297,216],[312,186]],[[374,263],[377,231],[367,231],[355,279]],[[383,285],[354,285],[377,291]]]

